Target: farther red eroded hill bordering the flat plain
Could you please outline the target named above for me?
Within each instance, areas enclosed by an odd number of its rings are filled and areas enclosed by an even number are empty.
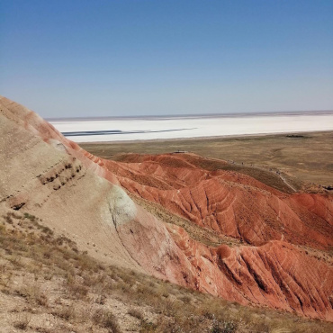
[[[270,239],[333,246],[333,196],[281,193],[233,171],[209,171],[192,154],[104,161],[130,193],[222,235],[260,245]],[[202,165],[204,165],[202,163]]]

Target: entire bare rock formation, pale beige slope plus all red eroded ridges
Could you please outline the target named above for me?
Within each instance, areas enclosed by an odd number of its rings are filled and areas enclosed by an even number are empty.
[[[0,209],[34,214],[90,255],[243,304],[333,320],[332,198],[280,193],[191,154],[105,161],[0,98]],[[217,163],[217,162],[214,162]],[[219,161],[223,164],[225,162]],[[161,204],[241,240],[209,247],[132,202]]]

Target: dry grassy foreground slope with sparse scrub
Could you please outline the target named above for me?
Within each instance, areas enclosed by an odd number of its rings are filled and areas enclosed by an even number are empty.
[[[10,215],[8,222],[6,216],[0,228],[0,293],[16,304],[12,328],[194,333],[332,329],[326,322],[242,307],[148,275],[103,266],[78,251],[70,239],[39,228],[37,218]],[[5,321],[9,311],[10,306],[1,310],[0,320]],[[45,315],[52,326],[41,320]]]

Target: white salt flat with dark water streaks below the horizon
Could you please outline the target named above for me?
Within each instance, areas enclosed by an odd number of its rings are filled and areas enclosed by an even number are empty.
[[[113,120],[109,118],[50,122],[69,139],[76,142],[96,142],[333,130],[333,113]]]

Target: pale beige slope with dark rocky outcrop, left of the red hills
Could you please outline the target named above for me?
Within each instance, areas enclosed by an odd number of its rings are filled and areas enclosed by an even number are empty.
[[[29,212],[94,257],[182,283],[185,257],[161,222],[36,113],[4,97],[0,107],[1,211]]]

